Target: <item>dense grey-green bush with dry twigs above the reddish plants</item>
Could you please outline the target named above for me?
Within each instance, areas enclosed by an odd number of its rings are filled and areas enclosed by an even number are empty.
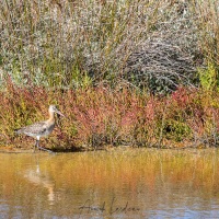
[[[211,0],[5,0],[1,69],[16,84],[197,87],[208,67],[218,80],[218,9]]]

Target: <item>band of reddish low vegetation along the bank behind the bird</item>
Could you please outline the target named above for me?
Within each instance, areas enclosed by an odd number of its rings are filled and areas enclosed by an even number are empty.
[[[42,143],[54,149],[104,146],[204,147],[217,146],[219,95],[180,88],[169,96],[128,89],[46,90],[15,88],[8,80],[0,93],[1,145],[28,147],[32,138],[13,130],[45,119],[49,104],[67,116]],[[46,141],[46,142],[45,142]]]

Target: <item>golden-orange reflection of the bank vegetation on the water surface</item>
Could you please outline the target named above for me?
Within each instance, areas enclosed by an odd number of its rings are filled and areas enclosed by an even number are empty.
[[[193,195],[218,197],[217,149],[127,149],[38,157],[39,172],[33,154],[0,154],[0,194],[13,198],[11,205],[28,206],[30,214],[38,214],[41,208],[42,214],[42,209],[53,209],[55,215],[70,216],[79,212],[87,199],[97,206],[105,201],[107,209],[113,198],[115,206],[128,200],[129,206],[143,210],[153,203],[157,209],[158,198],[173,205],[176,194],[180,203]]]

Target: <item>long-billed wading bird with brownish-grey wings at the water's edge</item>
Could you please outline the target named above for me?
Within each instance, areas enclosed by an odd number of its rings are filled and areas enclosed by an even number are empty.
[[[49,113],[49,118],[47,120],[38,122],[38,123],[32,124],[30,126],[25,126],[23,128],[15,130],[16,134],[25,134],[26,136],[36,137],[34,151],[35,151],[35,148],[37,147],[39,150],[53,152],[50,150],[39,147],[39,139],[41,137],[48,136],[54,130],[55,113],[64,117],[65,115],[60,111],[58,111],[55,105],[49,106],[48,113]]]

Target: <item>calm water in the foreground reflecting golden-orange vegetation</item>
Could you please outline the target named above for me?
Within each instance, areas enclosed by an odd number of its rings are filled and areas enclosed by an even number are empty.
[[[0,218],[218,218],[218,155],[0,153]]]

